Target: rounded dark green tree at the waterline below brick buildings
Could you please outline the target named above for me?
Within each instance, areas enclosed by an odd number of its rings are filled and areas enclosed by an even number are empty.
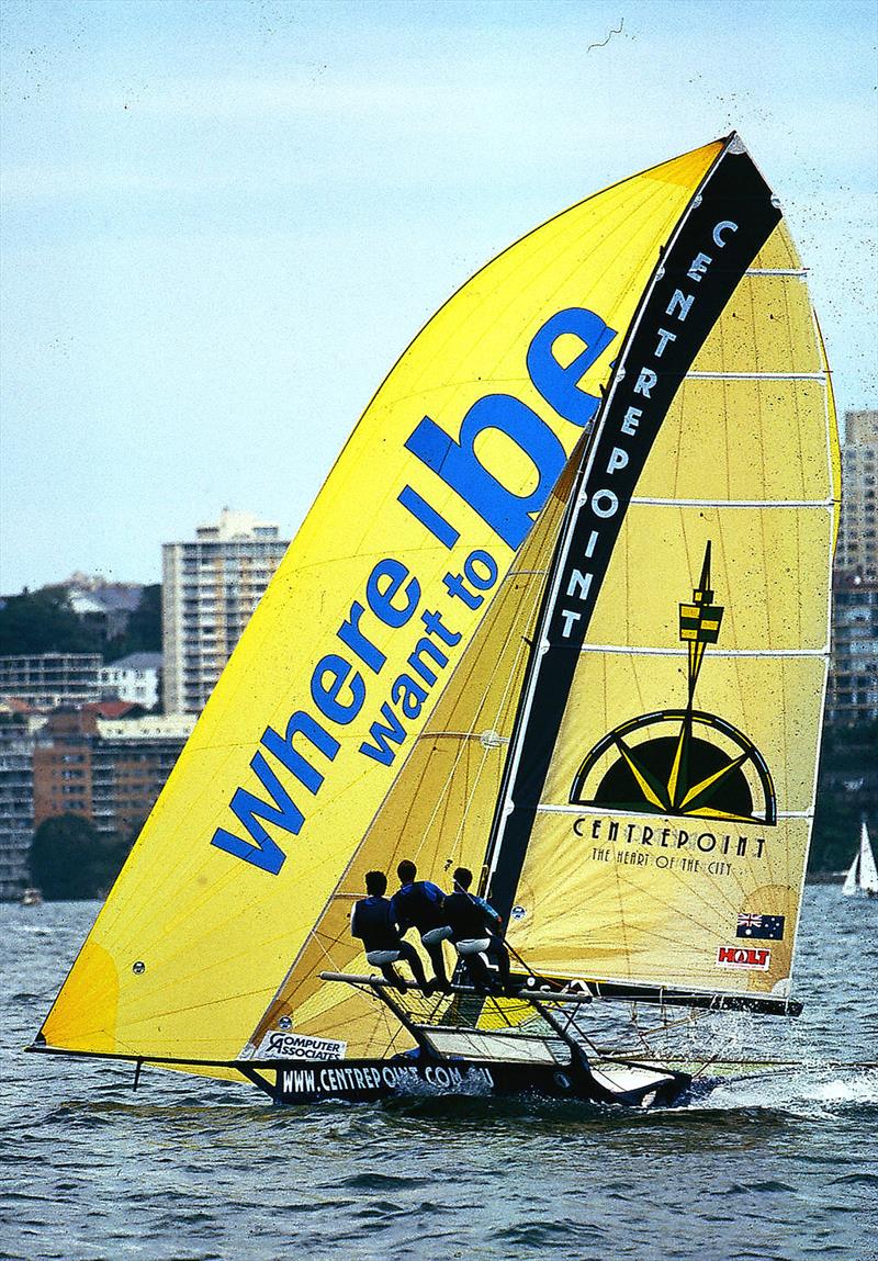
[[[101,898],[119,875],[130,849],[81,815],[44,820],[30,845],[30,874],[48,902]]]

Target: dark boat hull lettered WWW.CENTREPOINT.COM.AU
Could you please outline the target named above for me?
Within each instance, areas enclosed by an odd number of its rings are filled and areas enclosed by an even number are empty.
[[[685,1101],[691,1078],[645,1066],[616,1064],[590,1068],[467,1059],[346,1059],[323,1063],[279,1061],[275,1082],[262,1072],[257,1084],[275,1103],[318,1103],[343,1100],[371,1103],[424,1096],[542,1096],[619,1103],[629,1107],[667,1107]],[[247,1073],[247,1076],[250,1076]],[[251,1078],[255,1081],[255,1076]]]

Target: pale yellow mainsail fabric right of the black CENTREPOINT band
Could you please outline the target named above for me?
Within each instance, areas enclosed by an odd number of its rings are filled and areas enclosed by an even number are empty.
[[[693,364],[636,488],[518,888],[511,939],[536,971],[787,992],[838,501],[834,410],[804,277],[758,274],[796,267],[781,224]],[[711,769],[672,798],[662,793],[686,774],[680,608],[691,617],[708,542],[710,603],[724,612],[718,642],[698,646],[694,709],[705,718],[693,731],[714,752],[699,754]],[[614,731],[619,741],[590,762]],[[699,805],[695,786],[720,782],[738,786],[737,799],[749,794],[752,810],[737,817],[709,791]],[[770,797],[776,822],[764,817]],[[739,937],[739,914],[782,915],[782,938]],[[729,966],[728,948],[744,947],[767,953]]]

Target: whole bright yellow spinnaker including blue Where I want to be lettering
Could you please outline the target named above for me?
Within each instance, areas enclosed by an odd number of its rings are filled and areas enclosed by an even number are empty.
[[[445,729],[428,724],[513,589],[546,503],[551,516],[553,487],[598,412],[657,259],[733,151],[706,145],[551,219],[413,342],[233,653],[43,1025],[44,1045],[194,1063],[233,1059],[254,1037],[319,939],[363,837],[376,864],[399,847],[400,768],[428,791],[420,753],[440,757]],[[694,256],[693,266],[706,265]],[[516,660],[503,668],[517,680]],[[498,700],[496,721],[507,709]],[[467,721],[477,718],[472,704]],[[428,730],[433,745],[420,739]],[[423,875],[478,851],[482,825],[460,830],[454,817],[462,801],[447,811],[462,847],[431,840]],[[322,1001],[317,990],[309,1001]]]

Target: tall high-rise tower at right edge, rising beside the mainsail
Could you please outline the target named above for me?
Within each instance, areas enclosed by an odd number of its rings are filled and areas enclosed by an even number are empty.
[[[878,579],[878,410],[848,411],[841,448],[841,522],[835,569]]]

